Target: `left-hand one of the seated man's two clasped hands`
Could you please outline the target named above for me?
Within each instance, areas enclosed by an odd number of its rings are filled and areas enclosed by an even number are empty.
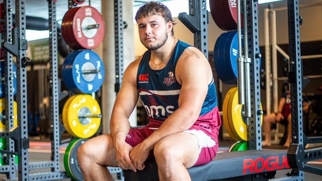
[[[115,145],[115,157],[119,168],[123,170],[131,169],[136,172],[136,168],[130,158],[130,151],[132,149],[133,147],[126,142],[118,143]]]

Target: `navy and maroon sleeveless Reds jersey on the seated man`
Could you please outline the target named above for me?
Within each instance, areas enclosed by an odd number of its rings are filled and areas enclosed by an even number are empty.
[[[147,50],[142,56],[137,73],[137,89],[148,114],[147,127],[150,129],[158,129],[162,122],[179,107],[181,85],[175,79],[175,66],[180,55],[189,46],[191,45],[178,40],[167,65],[160,70],[150,68],[151,50]],[[206,131],[207,135],[211,135],[217,141],[216,136],[220,125],[213,80],[208,85],[205,101],[193,129]]]

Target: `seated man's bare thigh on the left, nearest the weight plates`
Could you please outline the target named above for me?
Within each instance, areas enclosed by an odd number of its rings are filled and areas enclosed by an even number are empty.
[[[97,164],[118,167],[112,137],[109,134],[91,138],[84,146],[90,150],[90,155]]]

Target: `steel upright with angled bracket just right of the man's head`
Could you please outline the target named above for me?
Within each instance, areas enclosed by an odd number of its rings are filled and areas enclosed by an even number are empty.
[[[188,0],[189,15],[179,13],[179,20],[194,34],[194,46],[208,59],[208,10],[206,0]]]

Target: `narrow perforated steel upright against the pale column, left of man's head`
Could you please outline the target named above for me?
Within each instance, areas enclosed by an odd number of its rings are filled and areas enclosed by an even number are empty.
[[[122,0],[114,0],[114,34],[115,34],[115,92],[121,88],[123,78],[123,19]]]

